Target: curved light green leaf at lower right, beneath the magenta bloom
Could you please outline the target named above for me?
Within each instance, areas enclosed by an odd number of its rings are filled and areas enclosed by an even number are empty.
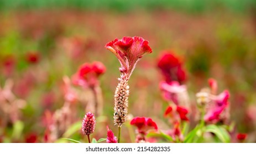
[[[207,125],[205,128],[205,132],[211,132],[214,133],[218,139],[220,139],[224,143],[230,142],[230,136],[226,129],[224,129],[222,126],[217,125]]]

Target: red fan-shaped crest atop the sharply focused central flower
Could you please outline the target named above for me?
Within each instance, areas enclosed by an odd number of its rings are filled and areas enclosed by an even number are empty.
[[[121,73],[128,74],[128,78],[132,74],[139,59],[142,58],[145,53],[152,52],[151,48],[148,46],[148,41],[137,36],[123,37],[122,40],[116,38],[108,42],[105,47],[117,56],[121,63],[119,70]]]

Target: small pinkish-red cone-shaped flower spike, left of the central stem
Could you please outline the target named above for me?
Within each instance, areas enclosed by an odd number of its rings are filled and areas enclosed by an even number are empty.
[[[95,130],[95,124],[96,124],[96,119],[94,114],[91,112],[88,112],[85,114],[85,117],[82,120],[82,134],[83,135],[90,135],[93,133]]]

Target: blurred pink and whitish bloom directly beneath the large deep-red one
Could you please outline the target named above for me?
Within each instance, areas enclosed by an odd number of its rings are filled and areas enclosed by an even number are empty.
[[[177,81],[171,81],[170,83],[163,81],[159,86],[166,101],[172,101],[175,105],[187,104],[188,95],[185,85],[180,85]]]

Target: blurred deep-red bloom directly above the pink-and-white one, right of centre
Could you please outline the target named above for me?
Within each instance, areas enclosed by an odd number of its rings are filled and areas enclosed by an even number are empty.
[[[158,68],[165,77],[167,83],[178,81],[182,83],[186,80],[186,73],[182,69],[182,63],[173,53],[165,52],[158,61]]]

